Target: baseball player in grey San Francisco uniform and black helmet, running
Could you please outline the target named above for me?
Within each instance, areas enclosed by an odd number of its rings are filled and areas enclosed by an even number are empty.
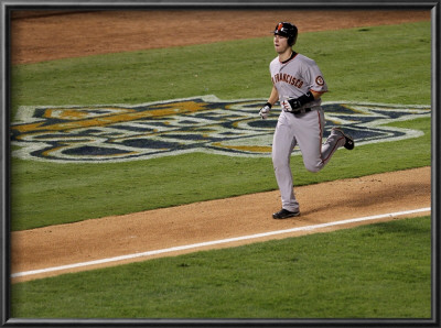
[[[300,215],[290,167],[294,146],[299,145],[306,170],[319,172],[338,147],[354,149],[354,140],[341,129],[333,128],[322,144],[325,118],[321,96],[327,91],[323,74],[313,59],[292,50],[298,36],[295,25],[278,23],[273,35],[278,56],[269,65],[272,90],[259,114],[267,119],[276,101],[281,105],[272,140],[272,164],[282,208],[272,218],[286,219]]]

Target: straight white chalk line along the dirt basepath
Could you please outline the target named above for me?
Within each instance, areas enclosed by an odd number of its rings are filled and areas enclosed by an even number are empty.
[[[158,254],[163,254],[163,253],[184,251],[184,250],[190,250],[190,249],[198,249],[198,248],[204,248],[204,247],[209,247],[209,245],[216,245],[216,244],[223,244],[223,243],[229,243],[229,242],[236,242],[236,241],[243,241],[243,240],[250,240],[250,239],[258,239],[258,238],[282,234],[282,233],[290,233],[290,232],[297,232],[297,231],[311,231],[311,230],[316,230],[316,229],[327,228],[327,227],[333,227],[333,226],[348,225],[348,223],[384,219],[384,218],[390,218],[390,217],[398,217],[398,216],[426,212],[426,211],[430,211],[430,207],[418,208],[418,209],[406,210],[406,211],[389,212],[389,214],[383,214],[383,215],[376,215],[376,216],[368,216],[368,217],[362,217],[362,218],[346,219],[346,220],[320,223],[320,225],[313,225],[313,226],[297,227],[297,228],[284,229],[284,230],[276,230],[276,231],[269,231],[269,232],[262,232],[262,233],[256,233],[256,234],[249,234],[249,236],[241,236],[241,237],[235,237],[235,238],[228,238],[228,239],[213,240],[213,241],[193,243],[193,244],[187,244],[187,245],[173,247],[173,248],[168,248],[168,249],[162,249],[162,250],[147,251],[147,252],[142,252],[142,253],[127,254],[127,255],[121,255],[121,256],[107,258],[107,259],[101,259],[101,260],[80,262],[80,263],[74,263],[74,264],[67,264],[67,265],[61,265],[61,266],[53,266],[53,267],[46,267],[46,269],[40,269],[40,270],[17,272],[17,273],[11,274],[11,277],[20,277],[20,276],[26,276],[26,275],[35,275],[35,274],[42,274],[42,273],[49,273],[49,272],[71,270],[71,269],[75,269],[75,267],[84,267],[84,266],[90,266],[90,265],[97,265],[97,264],[104,264],[104,263],[110,263],[110,262],[131,260],[131,259],[136,259],[136,258],[152,256],[152,255],[158,255]]]

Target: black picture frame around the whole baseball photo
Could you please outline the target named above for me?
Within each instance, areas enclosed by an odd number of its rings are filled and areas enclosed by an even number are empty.
[[[19,319],[10,317],[10,20],[14,10],[117,10],[117,9],[422,9],[432,21],[432,317],[431,319]],[[440,1],[12,1],[0,0],[1,22],[1,319],[4,327],[440,327]]]

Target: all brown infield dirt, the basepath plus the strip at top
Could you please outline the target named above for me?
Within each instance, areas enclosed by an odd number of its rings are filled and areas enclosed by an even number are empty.
[[[21,11],[14,12],[11,21],[11,59],[13,64],[30,64],[95,54],[268,36],[273,25],[281,20],[295,22],[302,33],[429,21],[430,12],[151,10],[65,14],[55,11]],[[173,31],[172,35],[170,31]],[[268,167],[268,172],[272,174],[272,168]],[[280,198],[278,192],[270,192],[12,232],[11,271],[17,273],[46,269],[201,241],[426,208],[431,205],[431,174],[430,167],[422,167],[297,187],[295,193],[302,215],[288,220],[271,218],[271,214],[280,207]],[[394,217],[381,220],[390,219]],[[332,229],[335,227],[320,231]],[[298,234],[300,233],[272,238]],[[259,239],[262,240],[265,239]],[[178,253],[182,252],[168,255]],[[137,261],[150,258],[140,258]],[[111,265],[126,262],[114,262]],[[17,277],[13,282],[95,267],[97,265],[26,275]]]

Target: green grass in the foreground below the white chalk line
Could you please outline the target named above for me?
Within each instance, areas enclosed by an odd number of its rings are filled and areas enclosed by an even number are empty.
[[[430,217],[13,285],[13,317],[430,318]]]

